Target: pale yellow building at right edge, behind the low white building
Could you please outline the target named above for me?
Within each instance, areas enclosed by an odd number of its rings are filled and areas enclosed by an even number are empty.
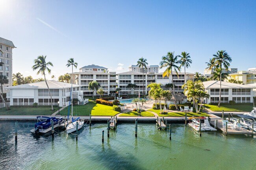
[[[227,79],[234,79],[243,81],[244,84],[256,83],[256,70],[255,71],[238,71],[228,75]]]

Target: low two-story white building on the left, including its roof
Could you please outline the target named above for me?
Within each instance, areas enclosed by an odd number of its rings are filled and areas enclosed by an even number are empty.
[[[71,84],[65,82],[58,82],[54,80],[47,80],[52,95],[52,102],[54,105],[68,106],[70,100]],[[86,104],[87,100],[83,99],[83,93],[80,90],[81,86],[73,84],[73,99],[80,100],[79,104]],[[18,86],[7,87],[10,90],[6,93],[10,100],[11,106],[17,105],[33,105],[37,102],[38,105],[51,105],[50,94],[45,81],[34,82],[29,84],[22,84]]]

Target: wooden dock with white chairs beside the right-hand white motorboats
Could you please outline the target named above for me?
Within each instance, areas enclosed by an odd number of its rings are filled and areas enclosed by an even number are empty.
[[[215,120],[217,120],[217,127],[218,129],[220,129],[221,131],[223,131],[223,133],[225,133],[225,127],[223,128],[222,125],[222,119],[211,119],[210,124],[215,126]],[[227,128],[227,134],[232,134],[232,135],[246,135],[246,134],[253,134],[252,131],[247,130],[245,128],[236,128],[236,129],[232,129],[230,126],[228,126]]]

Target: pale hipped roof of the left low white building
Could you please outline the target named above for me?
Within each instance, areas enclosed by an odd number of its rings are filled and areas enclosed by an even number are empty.
[[[59,82],[54,80],[46,80],[46,81],[50,89],[71,88],[70,83]],[[81,86],[77,84],[72,84],[72,87],[76,88]],[[41,81],[41,82],[34,82],[34,83],[28,83],[28,84],[21,84],[17,86],[9,86],[9,87],[6,87],[6,89],[47,89],[47,86],[45,81]]]

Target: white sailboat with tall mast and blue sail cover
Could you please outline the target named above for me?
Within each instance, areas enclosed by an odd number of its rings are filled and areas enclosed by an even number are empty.
[[[68,113],[68,121],[67,121],[67,133],[72,133],[76,131],[76,124],[77,129],[80,130],[83,127],[84,119],[80,119],[80,117],[74,119],[73,118],[73,96],[72,96],[72,85],[71,85],[71,92],[70,92],[70,101],[71,101],[71,117],[69,120],[69,113]],[[70,107],[70,101],[69,101],[69,107]]]

